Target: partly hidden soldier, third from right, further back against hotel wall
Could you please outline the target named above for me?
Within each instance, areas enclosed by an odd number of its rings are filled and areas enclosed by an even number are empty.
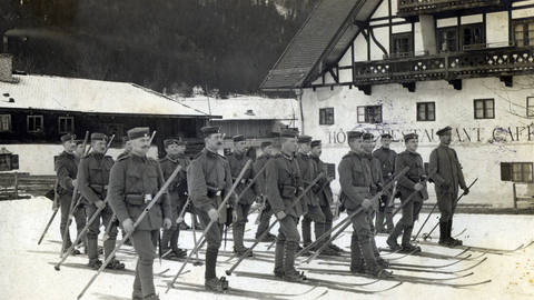
[[[380,161],[382,166],[382,180],[384,184],[388,184],[393,180],[395,173],[395,158],[397,152],[389,149],[392,144],[393,137],[389,133],[384,133],[380,136],[382,147],[373,152],[373,157],[377,158]],[[384,219],[386,219],[386,227],[380,229],[379,233],[392,233],[395,224],[393,223],[393,209],[395,208],[393,201],[393,187],[384,191],[384,194],[380,197],[380,202],[378,207],[378,212],[376,214],[376,228],[382,227]]]

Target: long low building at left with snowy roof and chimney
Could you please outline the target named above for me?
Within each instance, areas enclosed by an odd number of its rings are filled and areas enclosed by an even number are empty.
[[[196,139],[216,118],[132,83],[13,76],[11,57],[0,54],[0,147],[19,156],[21,172],[53,173],[66,133],[115,134],[109,154],[116,157],[129,129],[149,127],[157,132],[150,152],[157,157],[165,138]]]

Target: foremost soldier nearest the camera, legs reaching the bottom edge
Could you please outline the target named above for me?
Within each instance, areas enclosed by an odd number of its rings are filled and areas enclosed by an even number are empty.
[[[167,193],[161,194],[145,218],[134,227],[137,218],[165,184],[161,169],[155,159],[147,158],[150,149],[148,128],[134,128],[128,131],[131,152],[122,157],[111,168],[109,180],[109,202],[123,230],[130,234],[134,249],[139,257],[134,280],[134,300],[156,300],[154,286],[154,259],[161,226],[171,227],[171,208]]]

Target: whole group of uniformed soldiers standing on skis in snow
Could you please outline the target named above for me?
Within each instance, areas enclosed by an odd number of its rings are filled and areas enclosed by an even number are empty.
[[[167,156],[159,161],[147,157],[151,143],[148,128],[128,131],[125,153],[115,162],[106,156],[109,146],[108,137],[103,133],[90,136],[92,150],[87,154],[83,153],[83,141],[77,140],[75,134],[61,137],[65,151],[56,161],[56,169],[65,251],[77,251],[68,234],[69,213],[73,214],[77,222],[77,241],[85,243],[89,267],[93,269],[102,266],[97,247],[100,220],[106,227],[103,252],[107,259],[116,247],[119,224],[122,234],[129,236],[139,257],[132,299],[158,299],[152,272],[158,240],[160,253],[177,258],[186,256],[187,251],[178,248],[177,220],[187,209],[198,216],[202,230],[207,229],[205,287],[212,291],[225,291],[228,281],[216,273],[224,230],[231,227],[234,252],[237,256],[251,257],[251,249],[244,244],[244,232],[255,202],[260,206],[256,239],[276,240],[276,277],[291,282],[306,280],[304,273],[295,268],[296,253],[301,250],[299,222],[305,248],[310,248],[313,243],[313,222],[315,247],[310,250],[320,248],[320,253],[326,256],[338,256],[343,251],[332,243],[329,234],[325,234],[332,231],[334,221],[332,207],[335,203],[330,189],[334,176],[327,173],[326,164],[320,160],[320,140],[284,129],[279,148],[274,148],[273,142],[263,142],[263,154],[253,164],[247,156],[250,141],[244,136],[233,137],[234,152],[224,157],[218,153],[224,138],[220,127],[204,127],[201,132],[205,148],[195,159],[186,157],[184,141],[169,138],[164,141]],[[437,134],[441,144],[431,154],[429,169],[435,170],[431,172],[431,178],[435,182],[442,211],[439,243],[456,246],[461,241],[451,237],[451,228],[458,186],[464,193],[468,189],[456,152],[448,147],[451,128],[444,128]],[[376,247],[375,227],[377,231],[389,234],[387,244],[392,250],[421,251],[411,243],[411,238],[422,203],[428,199],[426,182],[429,178],[422,157],[416,152],[417,134],[404,137],[406,150],[399,154],[389,149],[392,136],[382,134],[380,139],[382,148],[373,151],[376,139],[372,133],[347,132],[350,150],[339,162],[338,173],[342,188],[339,200],[354,229],[350,270],[384,278],[392,273],[386,270],[388,263],[380,258]],[[406,167],[409,168],[407,171]],[[164,188],[165,192],[161,193]],[[394,226],[393,200],[396,196],[403,203],[403,218]],[[78,198],[81,204],[75,202]],[[147,211],[147,208],[150,209]],[[273,216],[279,221],[277,237],[267,230]],[[82,237],[80,233],[86,226],[89,231],[87,237]],[[162,238],[159,239],[161,228]],[[400,234],[403,239],[398,244]],[[108,260],[106,268],[125,268],[116,258]]]

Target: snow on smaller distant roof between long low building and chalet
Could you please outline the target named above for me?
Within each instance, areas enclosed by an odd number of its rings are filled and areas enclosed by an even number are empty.
[[[215,99],[206,96],[179,98],[179,103],[201,111],[222,116],[222,120],[298,120],[299,109],[296,99],[270,99],[261,97],[234,97]]]

